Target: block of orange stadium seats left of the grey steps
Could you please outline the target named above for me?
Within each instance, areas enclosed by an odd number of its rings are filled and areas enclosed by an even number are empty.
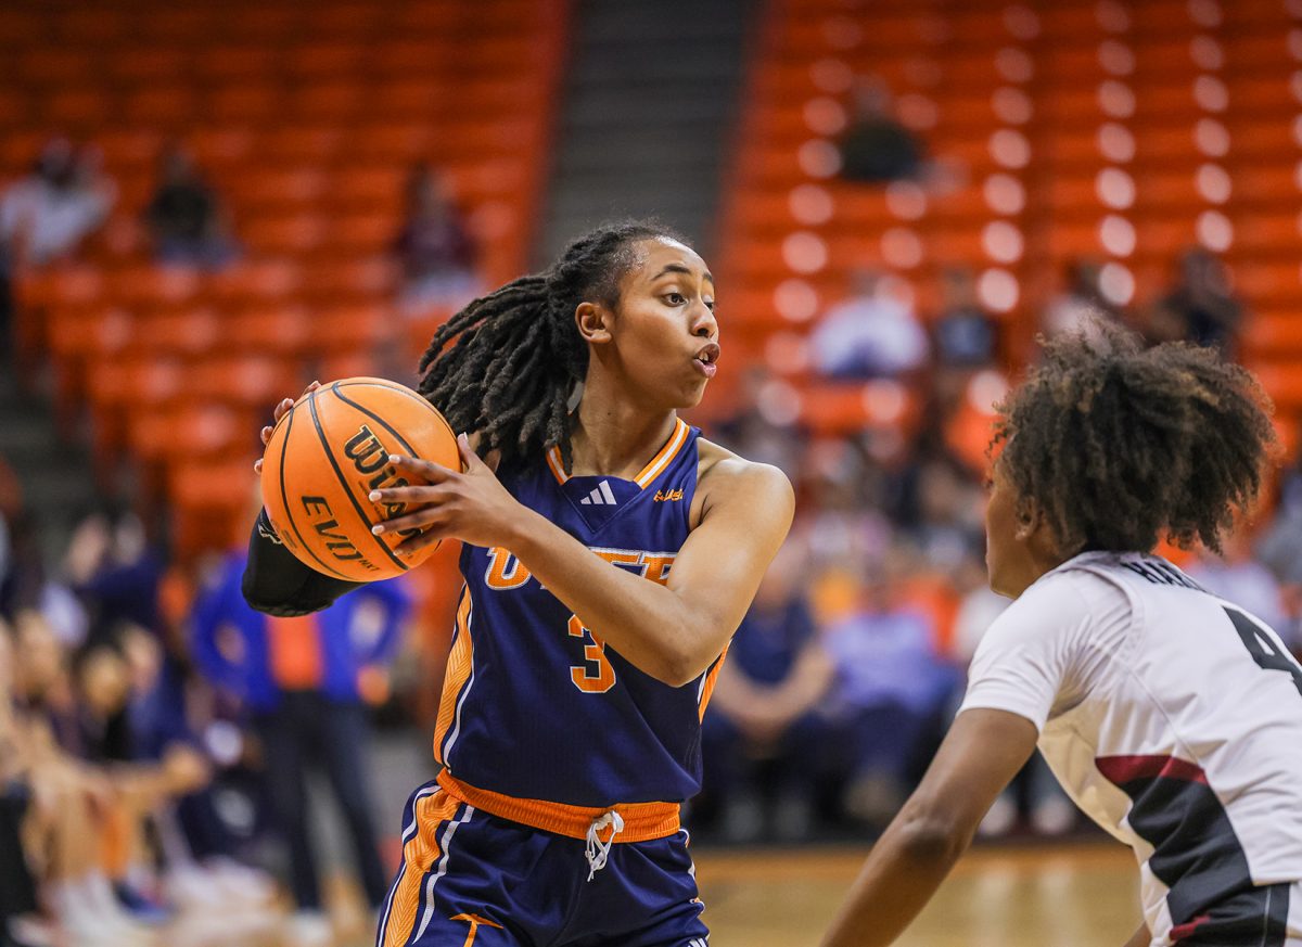
[[[0,9],[16,79],[0,90],[0,173],[25,173],[72,133],[102,148],[118,186],[90,265],[20,278],[20,351],[48,354],[65,406],[85,399],[98,458],[134,445],[168,468],[172,445],[195,444],[176,428],[198,416],[182,410],[195,398],[255,434],[254,415],[301,389],[306,356],[374,371],[370,349],[408,325],[391,313],[389,245],[414,163],[450,174],[486,273],[526,267],[564,39],[551,5],[519,0]],[[139,215],[172,139],[233,221],[242,258],[219,272],[145,256]],[[182,507],[190,552],[215,510],[229,518],[246,498],[241,487],[207,503],[216,488],[148,466],[150,488]]]

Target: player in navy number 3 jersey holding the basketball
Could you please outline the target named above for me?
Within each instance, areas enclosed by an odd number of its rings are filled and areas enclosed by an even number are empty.
[[[704,261],[646,224],[604,226],[434,337],[421,392],[462,471],[372,494],[460,539],[465,591],[410,799],[380,947],[704,947],[680,804],[700,718],[790,526],[777,470],[677,418],[716,372]],[[284,406],[283,406],[284,407]],[[480,459],[491,458],[492,466]],[[349,585],[297,565],[263,516],[246,594],[316,607]]]

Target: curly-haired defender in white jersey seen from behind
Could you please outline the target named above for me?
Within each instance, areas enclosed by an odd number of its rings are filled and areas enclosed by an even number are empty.
[[[1302,947],[1302,666],[1273,630],[1152,554],[1219,549],[1273,449],[1266,395],[1210,350],[1095,325],[1000,407],[991,587],[931,769],[828,947],[888,944],[1036,743],[1139,862],[1126,947]]]

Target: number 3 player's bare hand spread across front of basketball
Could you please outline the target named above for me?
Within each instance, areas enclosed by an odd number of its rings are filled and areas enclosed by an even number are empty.
[[[374,528],[378,535],[402,529],[422,529],[393,552],[409,555],[431,542],[458,539],[474,546],[506,546],[525,507],[506,492],[470,446],[465,434],[457,437],[462,471],[448,470],[430,460],[395,454],[389,462],[427,481],[419,487],[393,487],[374,490],[372,502],[404,503],[408,513]]]

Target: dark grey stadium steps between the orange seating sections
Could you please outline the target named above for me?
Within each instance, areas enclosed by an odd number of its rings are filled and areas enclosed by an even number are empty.
[[[539,263],[624,216],[656,216],[708,252],[756,5],[578,4]]]

